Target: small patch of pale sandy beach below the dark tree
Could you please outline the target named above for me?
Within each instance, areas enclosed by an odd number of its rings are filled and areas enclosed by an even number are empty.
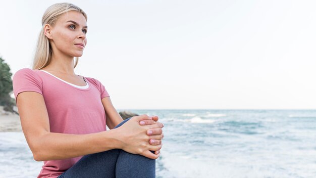
[[[0,113],[0,132],[4,131],[22,131],[19,115]]]

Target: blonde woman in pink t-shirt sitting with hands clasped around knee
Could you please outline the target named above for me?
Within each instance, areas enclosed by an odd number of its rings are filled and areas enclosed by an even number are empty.
[[[44,161],[38,177],[154,177],[164,126],[158,117],[123,121],[104,85],[74,72],[86,20],[75,5],[50,6],[32,69],[13,76],[23,133],[34,159]]]

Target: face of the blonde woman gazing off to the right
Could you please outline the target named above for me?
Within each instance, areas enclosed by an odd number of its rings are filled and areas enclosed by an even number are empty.
[[[50,31],[45,34],[49,38],[52,53],[62,53],[71,57],[80,57],[87,44],[87,21],[77,11],[62,14]],[[47,32],[47,33],[46,33]]]

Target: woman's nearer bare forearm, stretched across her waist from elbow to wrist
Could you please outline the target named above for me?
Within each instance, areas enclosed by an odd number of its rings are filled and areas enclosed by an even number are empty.
[[[33,157],[36,161],[59,160],[121,148],[116,135],[116,129],[84,135],[47,132],[33,143]]]

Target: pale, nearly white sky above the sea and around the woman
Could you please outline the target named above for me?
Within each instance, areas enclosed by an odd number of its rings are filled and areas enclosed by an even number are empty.
[[[31,68],[63,1],[0,1],[0,57]],[[116,109],[316,109],[315,1],[68,1],[87,16],[75,68]]]

